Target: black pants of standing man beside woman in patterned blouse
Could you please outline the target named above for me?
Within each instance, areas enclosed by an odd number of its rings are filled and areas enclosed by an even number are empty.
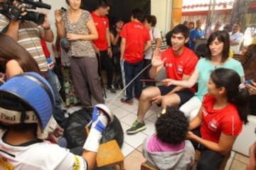
[[[105,69],[107,72],[107,87],[110,87],[113,81],[114,64],[110,56],[107,54],[107,50],[100,51],[100,63],[102,69]]]

